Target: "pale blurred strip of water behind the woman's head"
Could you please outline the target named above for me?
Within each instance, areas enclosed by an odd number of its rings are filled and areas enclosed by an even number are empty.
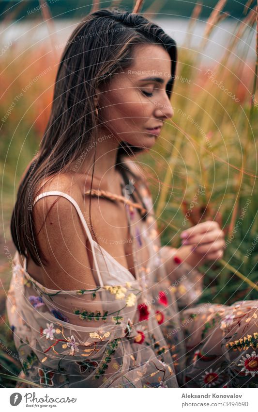
[[[53,47],[56,50],[62,50],[65,42],[68,40],[70,34],[75,29],[79,20],[52,20],[55,28],[55,33],[52,34]],[[188,30],[189,19],[187,18],[169,18],[169,19],[154,19],[154,23],[158,24],[163,30],[175,39],[178,46],[183,46],[186,33]],[[227,21],[220,22],[211,35],[210,41],[205,50],[202,50],[203,62],[214,62],[220,60],[221,56],[225,52],[225,48],[228,46],[228,40],[235,31],[237,19],[230,18]],[[202,34],[206,21],[197,20],[194,33],[191,36],[191,49],[197,48],[200,44]],[[248,32],[248,30],[247,30]],[[39,46],[41,42],[50,43],[50,35],[46,23],[43,21],[31,21],[31,22],[9,22],[9,27],[0,25],[0,46],[8,44],[10,40],[12,44],[16,44],[17,47],[24,49],[30,46]],[[96,35],[96,34],[95,34]],[[254,60],[256,56],[255,52],[255,26],[247,33],[241,40],[238,41],[238,49],[235,53],[243,48],[248,48],[247,60]]]

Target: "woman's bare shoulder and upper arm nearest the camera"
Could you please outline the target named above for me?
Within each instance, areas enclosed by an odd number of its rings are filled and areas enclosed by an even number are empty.
[[[60,191],[76,200],[81,209],[82,193],[69,176],[54,177],[41,188]],[[44,272],[46,287],[80,289],[81,284],[95,285],[86,251],[87,234],[71,201],[59,195],[40,198],[34,205],[33,219],[39,247],[48,264]]]

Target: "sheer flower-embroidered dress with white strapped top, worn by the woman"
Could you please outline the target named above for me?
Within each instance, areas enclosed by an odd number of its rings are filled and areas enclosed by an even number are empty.
[[[143,181],[137,187],[146,220],[125,204],[136,277],[92,239],[75,199],[54,191],[34,200],[59,195],[73,203],[91,243],[97,287],[48,289],[30,276],[26,258],[21,267],[16,251],[6,305],[24,378],[63,388],[255,386],[258,301],[192,307],[203,275],[175,248],[161,247],[151,192]]]

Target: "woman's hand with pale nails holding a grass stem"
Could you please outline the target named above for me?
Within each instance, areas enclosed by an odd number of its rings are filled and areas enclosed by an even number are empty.
[[[221,259],[224,254],[225,235],[217,222],[208,220],[183,231],[182,245],[193,245],[192,254],[201,261]]]

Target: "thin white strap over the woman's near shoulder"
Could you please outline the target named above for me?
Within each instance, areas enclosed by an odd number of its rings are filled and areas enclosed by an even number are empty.
[[[90,229],[89,229],[89,227],[88,227],[88,225],[87,225],[87,222],[86,222],[86,220],[85,220],[85,217],[83,216],[82,211],[81,211],[78,203],[76,202],[76,200],[75,200],[74,198],[72,198],[72,196],[68,195],[67,193],[59,192],[59,191],[54,190],[54,191],[50,191],[50,192],[44,192],[44,193],[41,193],[40,195],[38,195],[38,196],[35,198],[32,207],[34,206],[34,204],[35,204],[39,199],[44,198],[45,196],[54,196],[54,195],[58,195],[58,196],[62,196],[62,197],[64,197],[64,198],[67,198],[67,199],[70,200],[70,202],[73,203],[73,205],[75,206],[76,211],[77,211],[77,213],[78,213],[78,215],[79,215],[79,217],[80,217],[80,219],[81,219],[81,222],[82,222],[82,224],[83,224],[83,227],[84,227],[84,229],[85,229],[85,231],[86,231],[86,233],[87,233],[88,239],[89,239],[89,241],[90,241],[90,243],[91,243],[91,250],[92,250],[93,260],[94,260],[94,263],[95,263],[95,266],[96,266],[96,270],[97,270],[97,274],[98,274],[98,279],[99,279],[99,282],[100,282],[100,286],[103,287],[104,284],[103,284],[103,281],[102,281],[102,278],[101,278],[101,274],[100,274],[100,270],[99,270],[99,265],[98,265],[97,258],[96,258],[96,254],[95,254],[94,241],[93,241],[92,236],[91,236],[91,231],[90,231]]]

